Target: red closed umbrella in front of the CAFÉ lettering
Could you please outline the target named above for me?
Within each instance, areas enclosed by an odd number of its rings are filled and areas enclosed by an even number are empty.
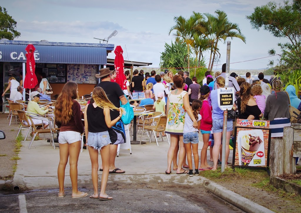
[[[32,45],[29,44],[25,48],[27,51],[26,53],[26,76],[24,79],[23,87],[26,89],[31,89],[35,88],[35,86],[38,84],[38,80],[35,74],[36,70],[36,62],[35,62],[35,57],[33,53],[35,52],[36,48]]]

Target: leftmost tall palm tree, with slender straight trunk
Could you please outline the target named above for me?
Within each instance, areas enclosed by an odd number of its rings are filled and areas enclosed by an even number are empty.
[[[190,67],[190,63],[189,63],[190,46],[192,46],[194,43],[194,39],[193,39],[194,28],[197,25],[198,21],[200,21],[202,18],[203,15],[197,12],[193,12],[193,14],[187,20],[182,16],[178,16],[178,17],[175,16],[174,21],[176,24],[172,26],[169,30],[169,35],[173,30],[176,30],[176,32],[173,34],[174,36],[176,36],[176,40],[182,38],[183,41],[187,44],[188,71]]]

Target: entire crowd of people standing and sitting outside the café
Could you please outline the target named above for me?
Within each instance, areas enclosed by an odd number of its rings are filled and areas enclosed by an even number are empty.
[[[187,71],[178,71],[174,75],[172,71],[168,70],[160,74],[156,74],[156,71],[153,70],[144,75],[143,70],[140,72],[134,70],[132,79],[130,79],[130,72],[125,71],[126,89],[122,90],[119,84],[115,83],[115,70],[103,68],[96,75],[101,82],[92,91],[92,99],[85,106],[84,113],[77,101],[79,99],[77,84],[67,82],[54,105],[55,121],[61,128],[58,137],[60,146],[58,196],[65,196],[64,177],[68,158],[72,197],[88,196],[87,193],[78,191],[77,187],[77,161],[81,134],[85,132],[86,145],[92,164],[94,188],[94,193],[90,198],[113,199],[106,194],[105,190],[109,174],[125,173],[124,170],[116,167],[115,158],[117,145],[125,142],[120,120],[126,112],[121,105],[128,103],[127,98],[132,92],[144,92],[145,95],[145,99],[140,103],[132,104],[140,107],[154,105],[155,111],[160,111],[167,116],[165,133],[170,134],[170,147],[167,154],[166,174],[171,174],[172,169],[176,170],[176,174],[187,174],[188,176],[197,176],[200,171],[217,170],[218,165],[221,164],[219,159],[222,153],[223,129],[223,111],[218,106],[217,89],[225,87],[225,71],[225,64],[223,64],[222,73],[216,72],[215,80],[210,72],[206,72],[202,81],[203,86],[200,86],[196,77],[190,79]],[[289,103],[295,108],[301,108],[301,100],[296,96],[294,86],[287,86],[286,91],[283,91],[283,83],[279,78],[268,81],[260,73],[259,81],[254,81],[250,73],[247,73],[246,76],[247,79],[244,79],[232,73],[229,77],[229,87],[233,87],[235,90],[236,117],[240,119],[265,118],[270,121],[272,137],[282,137],[283,127],[290,126]],[[49,101],[49,97],[45,95],[48,86],[47,79],[41,76],[40,88],[31,92],[31,101],[27,111],[41,115],[51,111],[48,105],[40,108],[37,104],[41,99]],[[15,82],[15,79],[10,79],[8,89],[12,91],[12,99],[22,98],[23,87]],[[33,122],[40,121],[33,120]],[[233,135],[234,123],[233,118],[227,120],[225,167],[228,164],[229,141]],[[44,128],[48,125],[49,123],[44,123]],[[203,138],[200,167],[199,131]],[[162,136],[166,136],[165,133]],[[213,161],[213,166],[209,166],[207,162],[209,146],[210,161]],[[101,166],[98,164],[98,152],[101,154]],[[192,168],[192,155],[194,155],[195,168]],[[188,164],[186,164],[186,157]],[[185,168],[189,170],[187,171]],[[100,193],[98,193],[98,169],[103,172]]]

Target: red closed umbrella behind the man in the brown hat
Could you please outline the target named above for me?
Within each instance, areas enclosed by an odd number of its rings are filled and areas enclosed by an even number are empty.
[[[126,76],[124,74],[124,59],[123,59],[123,50],[121,46],[116,46],[116,49],[114,51],[115,53],[115,61],[114,61],[114,67],[116,70],[116,78],[115,82],[119,84],[122,90],[126,89]]]

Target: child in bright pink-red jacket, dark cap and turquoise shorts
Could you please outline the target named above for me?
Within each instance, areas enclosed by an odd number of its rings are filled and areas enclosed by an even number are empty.
[[[203,105],[200,110],[200,115],[202,117],[200,130],[203,136],[203,148],[201,151],[201,165],[200,171],[210,170],[213,167],[210,167],[207,163],[207,148],[209,146],[209,136],[212,129],[212,107],[208,103],[208,97],[210,94],[209,86],[202,86],[200,89],[200,101]]]

